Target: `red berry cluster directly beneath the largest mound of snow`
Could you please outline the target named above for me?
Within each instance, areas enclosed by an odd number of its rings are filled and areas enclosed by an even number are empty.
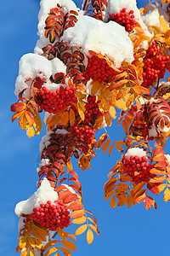
[[[86,80],[93,79],[102,84],[102,82],[106,82],[115,73],[115,70],[108,66],[105,59],[100,59],[93,55],[88,60],[88,67],[85,70],[84,77]]]

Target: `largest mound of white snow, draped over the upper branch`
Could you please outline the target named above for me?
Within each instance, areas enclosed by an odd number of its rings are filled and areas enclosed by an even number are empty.
[[[82,16],[75,26],[65,31],[61,39],[70,42],[71,46],[80,46],[85,55],[89,55],[89,50],[107,55],[116,67],[120,67],[124,60],[133,61],[133,43],[124,27],[114,21],[104,23],[90,16]]]

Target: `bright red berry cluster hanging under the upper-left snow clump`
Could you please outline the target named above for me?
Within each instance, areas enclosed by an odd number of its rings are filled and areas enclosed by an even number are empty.
[[[40,92],[42,99],[38,101],[41,109],[48,113],[62,112],[66,107],[71,105],[71,102],[77,102],[75,97],[76,90],[66,86],[60,86],[58,90],[48,90],[45,86]]]

